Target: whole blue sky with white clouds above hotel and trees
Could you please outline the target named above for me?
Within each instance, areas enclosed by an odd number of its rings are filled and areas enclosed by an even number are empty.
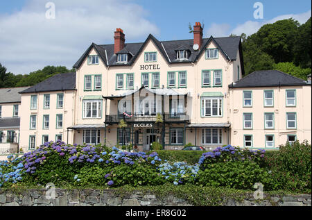
[[[263,17],[254,17],[254,3]],[[55,6],[55,17],[53,7]],[[52,13],[51,13],[52,12]],[[259,15],[259,14],[258,14]],[[311,17],[308,0],[14,0],[0,1],[0,63],[14,74],[46,65],[71,69],[92,42],[114,44],[122,28],[125,42],[192,39],[189,24],[205,25],[204,37],[251,35],[263,24]],[[52,18],[52,19],[51,19]]]

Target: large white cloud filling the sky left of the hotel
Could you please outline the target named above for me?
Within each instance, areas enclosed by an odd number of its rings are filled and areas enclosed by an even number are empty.
[[[146,10],[130,0],[53,0],[56,19],[46,19],[45,3],[29,0],[21,11],[0,15],[0,62],[8,71],[71,68],[92,42],[113,44],[116,28],[123,29],[126,42],[159,35],[144,18]]]

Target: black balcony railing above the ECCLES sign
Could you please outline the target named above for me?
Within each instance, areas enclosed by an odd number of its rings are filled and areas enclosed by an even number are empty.
[[[131,114],[128,114],[131,115]],[[189,115],[185,113],[164,113],[162,115],[162,120],[164,122],[183,122],[189,121]],[[127,115],[107,115],[105,118],[105,123],[119,123],[123,119],[126,122],[155,122],[157,120],[157,114],[134,114],[131,116]]]

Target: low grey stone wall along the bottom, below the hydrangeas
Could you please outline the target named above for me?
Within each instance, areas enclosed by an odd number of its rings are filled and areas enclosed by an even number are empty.
[[[155,194],[132,192],[118,195],[114,189],[28,189],[24,192],[0,190],[0,206],[191,206],[184,199],[175,196],[157,198]],[[52,192],[52,193],[51,193]],[[49,197],[51,196],[51,198]],[[225,201],[227,206],[311,206],[311,195],[265,196],[255,201],[247,195],[243,201]]]

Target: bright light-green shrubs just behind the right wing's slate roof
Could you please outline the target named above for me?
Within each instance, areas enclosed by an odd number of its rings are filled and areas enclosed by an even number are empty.
[[[293,62],[279,62],[273,65],[273,69],[282,71],[297,78],[302,78],[305,81],[306,78],[308,78],[308,75],[311,74],[311,68],[303,69],[301,67],[296,67]]]

